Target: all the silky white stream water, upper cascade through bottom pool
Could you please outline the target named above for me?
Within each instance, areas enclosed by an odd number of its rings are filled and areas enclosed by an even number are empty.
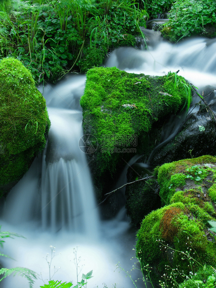
[[[154,39],[154,46],[150,45],[144,51],[115,50],[109,56],[107,66],[148,75],[180,70],[179,75],[198,87],[200,94],[206,85],[216,88],[216,39],[196,38],[179,45],[156,41]],[[51,276],[60,267],[53,276],[55,280],[76,283],[73,252],[77,251],[77,257],[81,257],[79,266],[83,265],[78,280],[82,273],[93,270],[87,287],[103,288],[103,283],[108,288],[115,283],[117,288],[134,287],[124,271],[113,271],[118,262],[126,271],[130,271],[136,262],[130,260],[134,257],[135,231],[130,227],[125,211],[120,211],[110,221],[99,219],[88,163],[78,145],[82,137],[79,99],[85,80],[84,75],[68,75],[57,85],[39,87],[46,98],[52,124],[46,149],[42,156],[35,158],[6,201],[1,201],[1,230],[26,237],[6,239],[3,253],[15,260],[1,257],[1,263],[3,267],[20,266],[41,273],[40,279],[35,281],[37,288],[43,285],[41,279],[48,283],[48,262],[53,247],[56,256],[50,266]],[[194,103],[198,101],[194,99]],[[209,101],[215,101],[214,93]],[[183,121],[179,119],[179,122]],[[166,126],[165,142],[177,132],[178,125]],[[138,270],[132,271],[134,280],[140,277]],[[141,279],[136,285],[144,287]],[[0,287],[27,288],[28,281],[20,276],[9,276],[0,282]]]

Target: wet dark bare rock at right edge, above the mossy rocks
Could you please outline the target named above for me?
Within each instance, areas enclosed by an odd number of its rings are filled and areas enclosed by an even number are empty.
[[[204,131],[199,129],[202,126],[205,128]],[[151,159],[151,165],[157,166],[189,158],[190,151],[192,157],[215,155],[216,122],[205,105],[200,106],[200,110],[183,124],[173,140],[155,153]]]

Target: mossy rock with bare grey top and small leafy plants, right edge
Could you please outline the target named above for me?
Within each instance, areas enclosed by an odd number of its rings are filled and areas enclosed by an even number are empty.
[[[158,183],[162,205],[168,204],[178,190],[198,189],[205,193],[210,190],[211,200],[215,201],[216,158],[210,155],[189,158],[157,167]],[[202,185],[201,185],[202,184]],[[205,184],[205,185],[204,185]]]

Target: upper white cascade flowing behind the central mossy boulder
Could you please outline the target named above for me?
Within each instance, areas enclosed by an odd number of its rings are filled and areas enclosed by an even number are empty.
[[[151,37],[147,40],[150,49],[142,51],[131,47],[118,48],[111,53],[105,66],[116,66],[130,73],[158,76],[180,70],[178,74],[196,87],[215,85],[216,38],[194,38],[171,44],[162,39],[158,41],[158,34],[154,37],[157,31],[149,31]]]

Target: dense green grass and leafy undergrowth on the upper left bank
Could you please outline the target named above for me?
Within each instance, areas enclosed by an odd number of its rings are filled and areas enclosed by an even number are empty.
[[[14,57],[36,82],[100,66],[119,46],[135,46],[147,13],[139,1],[0,2],[0,58]]]

